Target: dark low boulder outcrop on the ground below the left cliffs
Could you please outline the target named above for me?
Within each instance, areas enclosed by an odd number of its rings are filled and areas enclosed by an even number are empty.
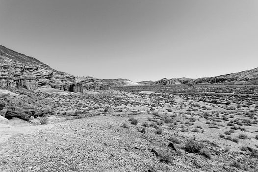
[[[24,120],[29,120],[30,116],[33,116],[35,114],[35,111],[33,110],[27,110],[24,108],[18,108],[18,107],[9,107],[7,109],[7,112],[5,114],[5,117],[7,119],[11,119],[13,117],[17,117]]]

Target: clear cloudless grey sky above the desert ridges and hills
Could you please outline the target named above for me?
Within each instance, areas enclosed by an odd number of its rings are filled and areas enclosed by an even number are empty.
[[[0,0],[0,45],[75,76],[223,75],[258,67],[258,0]]]

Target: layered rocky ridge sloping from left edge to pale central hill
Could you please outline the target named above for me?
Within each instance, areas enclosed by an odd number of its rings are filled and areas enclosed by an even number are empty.
[[[98,79],[75,77],[52,69],[34,57],[29,57],[0,45],[0,86],[26,88],[34,91],[42,86],[82,92],[83,89],[108,90],[115,86],[139,85],[128,79]]]

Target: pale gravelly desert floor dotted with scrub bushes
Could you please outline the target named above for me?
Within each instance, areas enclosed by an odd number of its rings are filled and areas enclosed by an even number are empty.
[[[1,172],[258,172],[258,86],[6,89]]]

